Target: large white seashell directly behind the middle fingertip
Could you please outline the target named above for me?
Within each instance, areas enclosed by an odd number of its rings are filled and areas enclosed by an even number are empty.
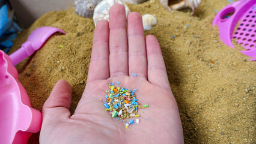
[[[129,7],[123,1],[103,0],[96,6],[96,8],[94,8],[93,21],[94,21],[95,26],[96,26],[97,22],[99,22],[99,20],[102,20],[102,19],[109,20],[109,10],[110,10],[111,6],[114,4],[124,5],[124,8],[126,9],[126,17],[130,13]]]

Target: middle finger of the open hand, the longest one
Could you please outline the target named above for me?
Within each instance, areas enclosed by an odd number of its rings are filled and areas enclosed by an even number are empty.
[[[110,76],[128,74],[126,11],[121,4],[109,10],[109,71]]]

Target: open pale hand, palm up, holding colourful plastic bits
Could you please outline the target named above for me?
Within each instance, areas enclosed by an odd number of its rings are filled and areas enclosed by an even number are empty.
[[[140,122],[130,125],[130,131],[105,112],[109,82],[136,88],[138,102],[149,105],[139,110]],[[126,31],[123,5],[111,7],[109,22],[97,23],[87,85],[73,115],[71,99],[72,87],[59,80],[43,106],[40,143],[184,143],[159,43],[153,35],[144,37],[138,13],[129,13]]]

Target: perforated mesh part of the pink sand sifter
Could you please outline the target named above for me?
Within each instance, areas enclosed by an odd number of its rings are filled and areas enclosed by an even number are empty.
[[[233,38],[245,49],[256,49],[256,3],[241,18]]]

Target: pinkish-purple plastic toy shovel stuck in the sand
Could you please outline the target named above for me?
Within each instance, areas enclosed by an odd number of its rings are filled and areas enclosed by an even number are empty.
[[[65,34],[61,29],[49,26],[35,29],[29,35],[28,40],[21,45],[20,49],[10,55],[13,65],[19,64],[19,62],[23,61],[26,57],[31,56],[35,50],[40,49],[47,38],[55,32],[62,32],[62,34]]]

